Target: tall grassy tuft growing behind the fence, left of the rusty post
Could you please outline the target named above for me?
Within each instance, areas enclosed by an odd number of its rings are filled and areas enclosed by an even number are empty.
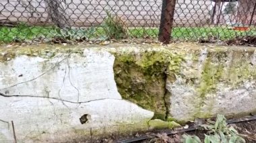
[[[123,39],[128,36],[128,28],[125,26],[125,22],[119,16],[111,15],[109,12],[104,19],[102,28],[106,33],[108,39]]]

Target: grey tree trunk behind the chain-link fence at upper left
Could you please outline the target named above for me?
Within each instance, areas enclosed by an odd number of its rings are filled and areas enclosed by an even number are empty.
[[[65,3],[59,0],[44,0],[49,17],[59,28],[70,27],[69,17],[65,11]]]

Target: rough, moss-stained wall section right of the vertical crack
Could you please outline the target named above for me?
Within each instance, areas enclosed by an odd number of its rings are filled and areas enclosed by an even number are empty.
[[[176,80],[167,79],[171,117],[187,121],[217,113],[255,113],[255,53],[243,47],[188,51]]]

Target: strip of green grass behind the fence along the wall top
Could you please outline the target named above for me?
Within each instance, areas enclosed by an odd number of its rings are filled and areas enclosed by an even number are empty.
[[[53,38],[66,40],[107,40],[109,32],[105,28],[92,27],[88,29],[67,28],[59,29],[54,26],[40,27],[18,24],[13,28],[0,27],[0,42],[24,42],[31,40],[43,40],[49,42]],[[127,38],[158,38],[158,28],[129,28]],[[256,36],[256,29],[247,32],[229,30],[228,28],[173,28],[172,39],[174,40],[199,40],[201,38],[217,38],[229,40],[236,36]],[[115,36],[114,36],[115,37]]]

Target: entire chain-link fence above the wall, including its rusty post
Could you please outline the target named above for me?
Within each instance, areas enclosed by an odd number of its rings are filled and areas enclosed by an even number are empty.
[[[256,0],[1,0],[0,42],[253,44],[255,7]]]

